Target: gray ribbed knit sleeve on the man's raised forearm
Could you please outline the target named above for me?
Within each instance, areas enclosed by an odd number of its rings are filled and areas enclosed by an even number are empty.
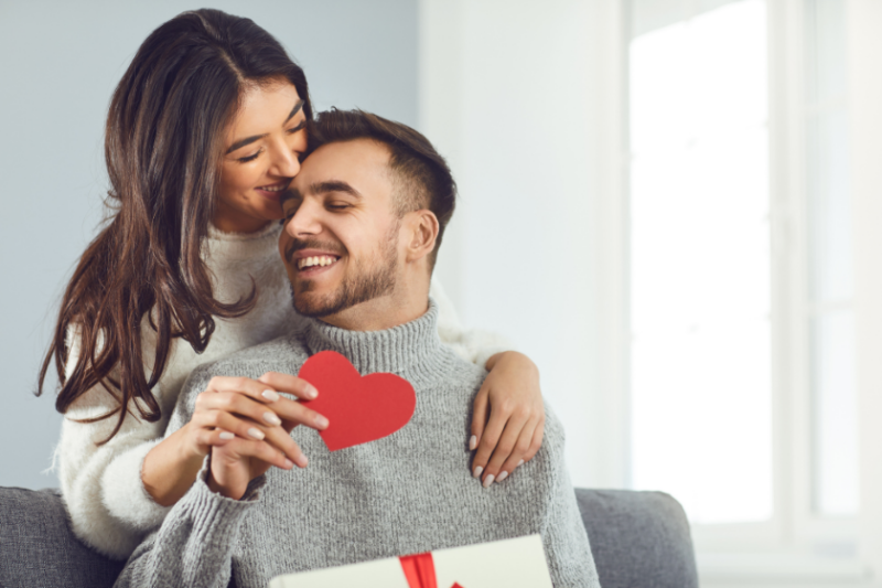
[[[208,458],[196,482],[172,507],[162,526],[135,550],[117,578],[116,588],[226,588],[233,554],[248,511],[259,500],[262,475],[241,500],[230,500],[205,483]]]

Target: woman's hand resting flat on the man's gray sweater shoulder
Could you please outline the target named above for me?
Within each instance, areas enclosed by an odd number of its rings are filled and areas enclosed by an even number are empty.
[[[484,488],[502,482],[533,459],[542,445],[545,406],[539,370],[516,351],[487,360],[490,371],[477,392],[469,449],[477,449],[472,474]]]

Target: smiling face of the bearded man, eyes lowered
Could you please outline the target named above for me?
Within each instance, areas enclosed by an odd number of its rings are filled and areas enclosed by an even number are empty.
[[[336,314],[395,289],[400,218],[388,162],[375,141],[330,143],[306,158],[282,196],[279,250],[300,313]]]

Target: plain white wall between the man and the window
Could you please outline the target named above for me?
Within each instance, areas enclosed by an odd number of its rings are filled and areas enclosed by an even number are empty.
[[[507,334],[539,364],[577,485],[624,483],[624,431],[604,430],[623,421],[598,343],[610,308],[595,296],[610,269],[599,229],[617,214],[601,199],[619,177],[603,137],[621,105],[602,85],[619,83],[606,53],[616,4],[420,2],[419,125],[460,186],[438,276],[466,324]]]

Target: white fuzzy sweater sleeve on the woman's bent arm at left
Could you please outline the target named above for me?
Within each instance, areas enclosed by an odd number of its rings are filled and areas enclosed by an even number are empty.
[[[79,350],[75,333],[68,343],[69,370]],[[117,396],[101,385],[79,396],[65,413],[55,463],[74,533],[97,552],[125,559],[169,511],[141,483],[144,456],[160,442],[168,417],[149,423],[132,409],[110,440],[118,414],[85,421],[118,407]]]

